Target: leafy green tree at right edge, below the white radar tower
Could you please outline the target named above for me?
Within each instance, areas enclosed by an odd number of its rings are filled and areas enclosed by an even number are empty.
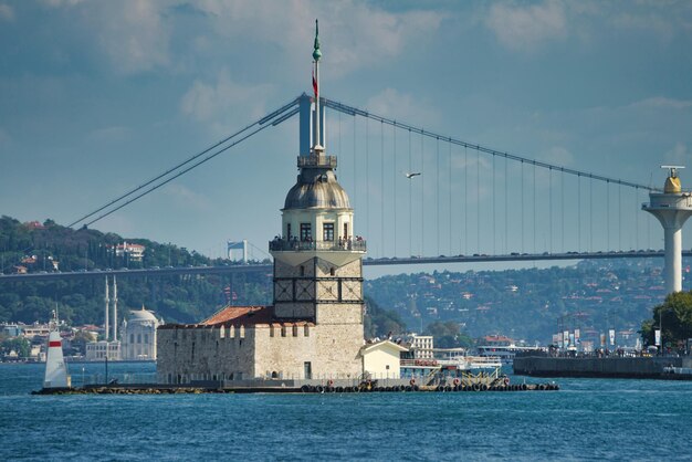
[[[662,319],[661,319],[662,316]],[[661,342],[673,346],[692,338],[692,291],[675,292],[653,308],[653,317],[641,324],[644,344],[654,344],[654,330],[663,324]]]

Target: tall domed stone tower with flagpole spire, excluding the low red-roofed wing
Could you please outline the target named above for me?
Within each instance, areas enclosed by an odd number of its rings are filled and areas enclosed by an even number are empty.
[[[313,374],[355,377],[361,370],[357,355],[363,346],[366,243],[354,235],[354,210],[336,179],[336,157],[327,156],[319,143],[321,57],[315,32],[312,149],[297,157],[300,172],[282,209],[281,237],[269,245],[274,258],[274,317],[316,325],[315,350],[324,354],[312,358]]]

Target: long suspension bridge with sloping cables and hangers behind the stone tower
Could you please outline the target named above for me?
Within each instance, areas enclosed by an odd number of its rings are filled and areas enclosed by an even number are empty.
[[[90,227],[294,116],[300,117],[300,154],[308,151],[313,103],[313,97],[303,94],[281,105],[69,225]],[[321,106],[321,138],[326,140],[331,134],[327,153],[338,156],[342,183],[358,216],[356,231],[368,242],[365,264],[663,254],[658,224],[641,211],[648,195],[660,188],[474,144],[325,97]],[[263,271],[263,265],[256,266]],[[248,270],[245,265],[138,271]]]

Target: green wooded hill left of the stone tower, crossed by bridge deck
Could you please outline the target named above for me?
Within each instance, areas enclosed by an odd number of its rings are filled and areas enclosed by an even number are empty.
[[[118,245],[144,245],[141,259],[118,251]],[[0,218],[0,261],[4,273],[94,269],[151,267],[216,264],[195,251],[148,239],[124,239],[115,233],[61,227],[52,220],[21,223]],[[228,262],[227,262],[228,263]],[[23,271],[23,270],[22,270]],[[118,308],[146,305],[167,322],[197,322],[234,298],[234,304],[270,303],[266,274],[156,276],[118,280]],[[75,324],[103,324],[104,280],[0,283],[0,322],[45,322],[59,308],[62,318]]]

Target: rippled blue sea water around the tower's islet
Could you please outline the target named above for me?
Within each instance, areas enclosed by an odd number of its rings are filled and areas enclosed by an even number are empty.
[[[108,368],[124,380],[156,370]],[[70,372],[76,386],[105,379],[104,364],[71,364]],[[42,378],[43,365],[0,365],[1,461],[692,460],[688,381],[560,378],[558,391],[523,392],[31,395]]]

